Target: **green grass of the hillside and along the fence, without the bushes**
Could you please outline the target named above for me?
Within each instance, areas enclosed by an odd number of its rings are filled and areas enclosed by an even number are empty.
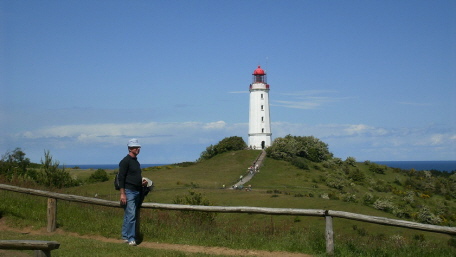
[[[178,198],[190,197],[189,192],[193,192],[218,206],[329,209],[397,218],[392,213],[365,205],[360,200],[343,199],[348,194],[354,195],[356,199],[361,199],[367,193],[387,196],[383,192],[373,192],[369,181],[394,183],[402,179],[402,175],[393,170],[388,170],[385,174],[371,174],[363,163],[358,163],[357,168],[369,174],[368,182],[353,183],[344,190],[336,190],[327,186],[327,183],[322,183],[323,177],[327,177],[330,172],[322,164],[310,163],[309,170],[301,170],[272,159],[266,159],[260,172],[248,182],[252,185],[252,191],[222,189],[223,185],[229,187],[240,175],[245,175],[247,167],[259,154],[260,151],[237,151],[188,167],[173,165],[145,169],[143,175],[155,184],[154,191],[145,201],[173,203]],[[88,177],[91,172],[93,171],[71,170],[72,175],[79,178]],[[116,201],[119,195],[114,190],[112,181],[115,171],[108,173],[111,180],[107,182],[67,188],[59,192],[91,197],[97,195]],[[405,190],[400,186],[398,188]],[[331,197],[325,199],[322,195]],[[0,191],[0,197],[5,199],[0,203],[0,217],[6,220],[8,226],[36,229],[46,226],[46,199],[5,191]],[[447,204],[453,208],[455,203],[449,201]],[[65,201],[58,203],[58,227],[81,235],[118,238],[122,215],[122,210],[116,208]],[[249,214],[207,217],[195,213],[150,209],[144,209],[141,217],[144,242],[325,255],[323,218]],[[333,222],[337,256],[456,255],[454,238],[448,235],[344,219],[335,219]],[[453,246],[449,245],[451,242]]]

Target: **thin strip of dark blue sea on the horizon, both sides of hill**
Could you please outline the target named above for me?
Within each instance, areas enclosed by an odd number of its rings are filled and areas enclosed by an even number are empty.
[[[377,164],[386,165],[392,168],[404,170],[438,170],[438,171],[456,171],[456,161],[372,161]],[[141,164],[141,168],[163,166],[167,164]],[[119,168],[119,164],[74,164],[65,165],[65,168],[79,167],[80,169],[105,169],[114,170]]]

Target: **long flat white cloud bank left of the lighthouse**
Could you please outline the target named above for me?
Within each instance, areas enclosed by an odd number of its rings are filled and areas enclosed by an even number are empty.
[[[247,129],[245,128],[245,131]],[[64,125],[29,130],[16,135],[24,140],[57,139],[79,144],[105,143],[117,145],[125,138],[141,138],[144,143],[166,144],[185,141],[212,142],[213,138],[239,130],[239,124],[227,126],[224,121],[215,122],[149,122],[125,124]],[[220,140],[220,139],[219,139]],[[216,142],[215,142],[216,143]]]

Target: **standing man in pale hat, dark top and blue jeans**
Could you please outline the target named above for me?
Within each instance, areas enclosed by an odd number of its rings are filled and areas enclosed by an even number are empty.
[[[138,139],[128,141],[128,155],[119,163],[120,203],[124,208],[122,239],[131,246],[136,246],[136,221],[141,205],[143,181],[137,156],[141,150]]]

